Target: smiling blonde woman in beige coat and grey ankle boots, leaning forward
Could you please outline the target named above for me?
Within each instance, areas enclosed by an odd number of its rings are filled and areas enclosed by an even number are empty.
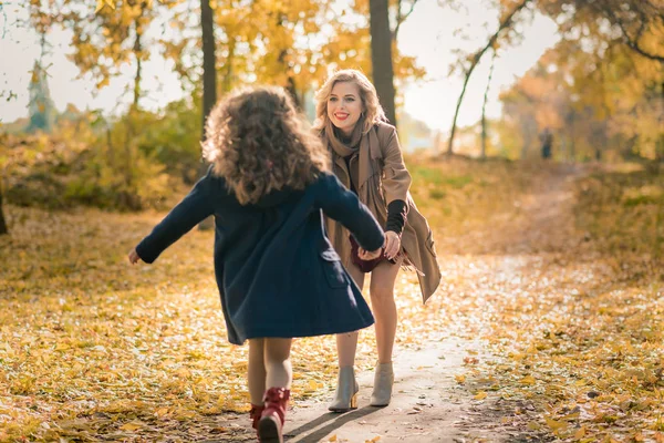
[[[357,194],[385,229],[383,255],[363,260],[349,231],[336,222],[326,228],[342,262],[360,289],[371,272],[371,301],[375,317],[378,361],[371,404],[386,406],[392,398],[394,372],[392,350],[397,313],[394,284],[401,267],[415,269],[424,301],[440,282],[434,240],[426,219],[417,212],[408,188],[411,175],[394,126],[386,123],[373,84],[356,70],[338,71],[317,92],[314,127],[331,153],[333,172]],[[329,409],[355,409],[359,385],[354,362],[357,332],[336,336],[339,378],[335,399]]]

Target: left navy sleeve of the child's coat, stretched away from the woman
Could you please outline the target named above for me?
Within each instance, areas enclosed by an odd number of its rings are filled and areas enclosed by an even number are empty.
[[[145,262],[152,264],[170,245],[191,228],[214,214],[210,172],[194,186],[153,231],[137,246],[136,253]]]

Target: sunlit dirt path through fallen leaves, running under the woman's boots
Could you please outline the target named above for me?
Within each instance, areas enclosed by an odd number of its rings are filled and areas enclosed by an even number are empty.
[[[548,264],[556,254],[577,247],[582,238],[574,231],[573,195],[568,186],[583,174],[560,166],[542,176],[529,195],[515,200],[515,210],[497,217],[486,231],[466,238],[440,238],[442,290],[453,281],[473,282],[465,289],[480,298],[499,285],[505,293],[552,281]],[[496,235],[496,233],[501,233]],[[445,245],[461,241],[468,254],[445,255]],[[454,287],[454,286],[453,286]],[[458,284],[456,285],[458,290]],[[437,295],[443,297],[443,295]],[[444,312],[440,312],[444,315]],[[461,331],[463,332],[463,331]],[[467,331],[466,331],[467,332]],[[546,431],[528,427],[535,408],[476,399],[478,387],[458,383],[455,375],[468,371],[477,360],[499,360],[469,333],[449,331],[418,348],[401,347],[395,353],[395,387],[392,403],[369,406],[373,373],[359,374],[360,409],[345,414],[326,410],[326,401],[293,404],[286,436],[289,442],[533,442],[548,441]],[[398,348],[398,347],[397,347]],[[515,415],[515,409],[520,412]],[[246,423],[240,418],[238,423]],[[249,430],[243,430],[248,432]],[[242,432],[242,436],[249,439]],[[236,435],[234,440],[239,440]]]

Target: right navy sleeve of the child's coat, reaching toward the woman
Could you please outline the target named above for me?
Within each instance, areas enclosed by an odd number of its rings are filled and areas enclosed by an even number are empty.
[[[383,229],[371,210],[336,176],[321,174],[317,183],[315,200],[317,206],[328,217],[345,226],[364,249],[376,250],[385,243]]]

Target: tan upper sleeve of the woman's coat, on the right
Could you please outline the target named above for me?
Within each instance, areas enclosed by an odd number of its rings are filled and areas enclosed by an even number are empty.
[[[385,204],[394,200],[407,202],[411,188],[411,174],[406,169],[396,128],[390,125],[380,127],[378,142],[383,153],[383,189],[385,192]]]

